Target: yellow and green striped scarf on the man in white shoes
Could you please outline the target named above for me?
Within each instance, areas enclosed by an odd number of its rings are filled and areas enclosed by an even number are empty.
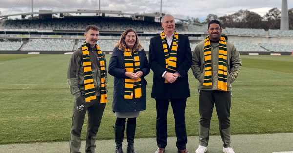
[[[209,36],[205,39],[205,76],[204,86],[212,85],[212,68],[211,68],[211,45]],[[218,89],[227,91],[227,46],[225,37],[221,35],[219,41],[219,63],[218,63]]]

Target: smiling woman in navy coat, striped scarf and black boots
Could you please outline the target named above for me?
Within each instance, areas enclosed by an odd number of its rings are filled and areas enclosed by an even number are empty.
[[[115,123],[116,153],[123,153],[122,141],[127,119],[127,153],[134,151],[136,117],[146,110],[146,80],[149,73],[145,50],[140,44],[136,32],[126,29],[115,45],[109,63],[109,74],[114,76],[113,112]]]

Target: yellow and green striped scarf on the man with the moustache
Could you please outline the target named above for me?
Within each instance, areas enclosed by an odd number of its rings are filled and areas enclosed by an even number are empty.
[[[100,103],[107,103],[107,92],[106,92],[106,84],[105,84],[105,60],[103,57],[103,53],[100,50],[99,45],[96,45],[98,58],[100,61],[100,71],[101,71],[101,98]],[[83,51],[83,66],[84,66],[84,89],[85,89],[85,102],[90,102],[90,100],[96,99],[96,91],[94,87],[93,74],[91,69],[91,63],[89,58],[88,47],[86,46],[86,42],[82,45]]]

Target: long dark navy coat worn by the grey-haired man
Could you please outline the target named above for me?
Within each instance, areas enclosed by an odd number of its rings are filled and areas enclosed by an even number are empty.
[[[190,97],[187,72],[192,64],[189,38],[178,34],[176,71],[180,77],[174,83],[165,83],[162,77],[165,67],[165,56],[160,35],[150,39],[149,65],[154,73],[151,97],[155,99],[180,99]]]

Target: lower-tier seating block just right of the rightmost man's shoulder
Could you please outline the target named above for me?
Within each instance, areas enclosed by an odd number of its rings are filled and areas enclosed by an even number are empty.
[[[260,47],[257,44],[253,44],[251,41],[230,41],[234,44],[238,51],[250,51],[250,52],[258,52],[258,51],[267,51]]]

